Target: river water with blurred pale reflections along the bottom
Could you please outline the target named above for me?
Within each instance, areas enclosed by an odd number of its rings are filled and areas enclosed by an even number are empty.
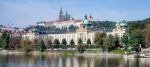
[[[150,67],[150,58],[0,55],[0,67]]]

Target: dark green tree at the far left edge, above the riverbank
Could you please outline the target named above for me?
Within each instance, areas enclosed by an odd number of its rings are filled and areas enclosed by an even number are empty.
[[[6,42],[6,44],[3,45],[3,48],[8,49],[9,48],[8,44],[10,39],[9,33],[7,31],[3,32],[1,38]]]

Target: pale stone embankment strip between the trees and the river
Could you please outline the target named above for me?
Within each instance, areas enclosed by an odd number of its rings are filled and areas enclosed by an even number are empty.
[[[30,51],[26,53],[23,50],[0,50],[0,55],[57,55],[57,56],[119,56],[121,54],[112,54],[112,53],[102,53],[98,49],[86,50],[84,53],[79,53],[76,50],[66,50],[66,49],[55,49],[55,50],[46,50],[41,51]]]

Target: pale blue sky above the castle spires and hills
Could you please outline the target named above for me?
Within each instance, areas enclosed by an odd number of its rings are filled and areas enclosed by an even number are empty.
[[[27,27],[57,20],[60,8],[72,17],[133,21],[150,17],[150,0],[0,0],[0,25]]]

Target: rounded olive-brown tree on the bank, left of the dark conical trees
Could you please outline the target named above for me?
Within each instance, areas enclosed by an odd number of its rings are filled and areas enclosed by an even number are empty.
[[[22,39],[21,40],[21,48],[25,52],[29,52],[31,50],[31,44],[32,44],[32,42],[28,39]]]

